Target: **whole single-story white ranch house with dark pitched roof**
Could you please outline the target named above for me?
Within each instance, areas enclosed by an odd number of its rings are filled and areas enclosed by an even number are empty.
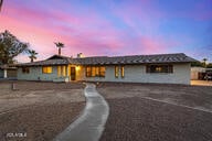
[[[191,62],[183,53],[71,58],[54,55],[19,64],[18,79],[190,84]]]

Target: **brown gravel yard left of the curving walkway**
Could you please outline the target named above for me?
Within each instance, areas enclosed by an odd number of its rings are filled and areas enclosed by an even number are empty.
[[[0,89],[1,141],[50,141],[85,106],[77,83],[0,82]]]

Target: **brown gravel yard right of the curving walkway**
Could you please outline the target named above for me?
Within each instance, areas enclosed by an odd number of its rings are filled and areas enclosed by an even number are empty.
[[[211,141],[212,87],[99,84],[110,112],[100,141]]]

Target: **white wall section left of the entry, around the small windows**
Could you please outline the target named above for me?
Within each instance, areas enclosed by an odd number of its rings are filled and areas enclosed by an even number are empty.
[[[49,80],[52,82],[53,79],[57,78],[57,66],[52,67],[51,74],[43,74],[42,67],[30,67],[29,74],[23,74],[22,68],[18,68],[18,79],[22,80]]]

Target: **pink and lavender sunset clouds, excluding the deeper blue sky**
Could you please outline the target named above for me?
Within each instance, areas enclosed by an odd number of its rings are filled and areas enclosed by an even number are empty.
[[[147,0],[145,2],[150,4]],[[178,46],[180,43],[174,40],[153,35],[159,28],[159,19],[165,15],[158,10],[148,10],[145,4],[140,8],[130,3],[129,7],[126,4],[121,9],[113,9],[115,17],[132,29],[130,31],[115,28],[112,21],[93,10],[84,15],[59,9],[39,11],[12,4],[0,17],[0,21],[4,21],[0,24],[0,31],[7,29],[20,40],[30,42],[31,47],[39,52],[39,59],[56,54],[53,42],[57,41],[65,44],[62,54],[66,56],[75,56],[81,52],[85,56],[166,53],[171,51],[170,47]],[[155,19],[151,15],[156,15]],[[140,26],[145,26],[148,34]],[[20,59],[29,61],[28,56],[23,57]]]

